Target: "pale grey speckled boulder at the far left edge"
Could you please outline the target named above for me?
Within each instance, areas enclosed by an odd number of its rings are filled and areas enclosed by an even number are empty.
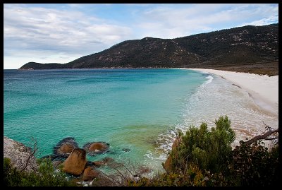
[[[11,164],[19,170],[25,168],[25,171],[31,172],[37,170],[36,158],[32,155],[31,148],[24,146],[23,143],[14,141],[11,138],[4,136],[4,158],[9,158]],[[29,156],[32,155],[29,158]],[[28,162],[27,162],[28,160]],[[27,163],[27,167],[25,167]]]

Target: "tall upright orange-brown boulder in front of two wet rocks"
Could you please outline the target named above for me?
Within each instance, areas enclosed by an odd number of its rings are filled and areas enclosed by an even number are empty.
[[[63,172],[69,174],[80,175],[82,174],[86,165],[86,152],[81,148],[75,148],[63,162]]]

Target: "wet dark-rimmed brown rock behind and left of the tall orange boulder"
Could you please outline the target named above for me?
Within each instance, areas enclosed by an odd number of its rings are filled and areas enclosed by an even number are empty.
[[[68,137],[63,138],[63,140],[59,141],[53,148],[53,153],[55,157],[63,157],[68,158],[71,154],[71,151],[75,148],[78,148],[78,143],[76,143],[75,138]]]

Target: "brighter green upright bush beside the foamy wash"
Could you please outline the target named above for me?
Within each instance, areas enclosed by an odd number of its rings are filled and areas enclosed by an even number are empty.
[[[182,143],[173,151],[172,160],[174,168],[187,167],[189,163],[197,164],[201,170],[209,169],[219,172],[226,169],[227,160],[231,156],[231,143],[235,140],[235,133],[231,129],[231,121],[228,117],[219,117],[215,121],[216,128],[207,130],[207,124],[200,128],[190,126]]]

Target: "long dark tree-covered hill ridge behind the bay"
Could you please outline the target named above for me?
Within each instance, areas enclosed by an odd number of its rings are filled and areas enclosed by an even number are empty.
[[[269,63],[274,61],[278,61],[278,23],[247,25],[176,39],[127,40],[67,64],[30,62],[20,69],[189,67],[235,71],[243,68],[252,72],[254,68],[267,70]],[[270,73],[276,73],[278,64],[271,66],[275,72]]]

